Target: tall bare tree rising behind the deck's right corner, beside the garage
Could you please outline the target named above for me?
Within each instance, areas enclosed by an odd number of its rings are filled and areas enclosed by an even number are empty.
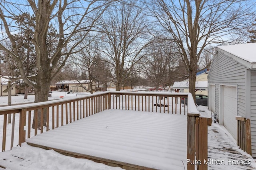
[[[160,31],[176,43],[195,98],[197,66],[205,47],[244,36],[255,11],[254,0],[154,0],[149,6]],[[162,28],[162,29],[161,29]]]

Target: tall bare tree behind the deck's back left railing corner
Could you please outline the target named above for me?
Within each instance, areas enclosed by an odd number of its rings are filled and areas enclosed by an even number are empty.
[[[120,1],[106,11],[98,24],[102,31],[101,52],[114,68],[116,91],[120,91],[134,65],[145,55],[144,48],[149,43],[145,38],[147,20],[140,5],[137,0]]]

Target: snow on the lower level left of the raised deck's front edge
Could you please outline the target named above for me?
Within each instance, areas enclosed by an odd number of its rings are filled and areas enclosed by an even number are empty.
[[[22,143],[22,147],[0,152],[1,166],[6,170],[121,170],[92,160],[64,156],[54,150],[31,147]]]

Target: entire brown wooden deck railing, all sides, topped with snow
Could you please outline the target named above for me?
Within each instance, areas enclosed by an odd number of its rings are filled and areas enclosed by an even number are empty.
[[[182,104],[182,98],[188,98],[188,106],[185,107]],[[2,137],[2,151],[21,145],[25,139],[38,133],[72,123],[72,121],[106,109],[187,115],[187,159],[190,160],[187,162],[187,169],[194,170],[196,160],[207,160],[207,125],[209,125],[209,120],[200,117],[190,93],[99,92],[77,98],[1,107],[0,116],[4,117],[3,133],[0,135],[0,138]],[[43,126],[44,111],[46,111],[45,127]],[[38,129],[32,129],[33,116],[39,113],[41,126]],[[7,125],[8,114],[12,114],[11,128],[10,125]],[[37,127],[37,124],[35,126]],[[11,130],[8,131],[8,129]],[[19,132],[18,135],[15,131]],[[7,135],[7,133],[9,134]],[[11,138],[7,139],[7,136],[11,136]],[[197,167],[198,169],[207,169],[207,165]]]

